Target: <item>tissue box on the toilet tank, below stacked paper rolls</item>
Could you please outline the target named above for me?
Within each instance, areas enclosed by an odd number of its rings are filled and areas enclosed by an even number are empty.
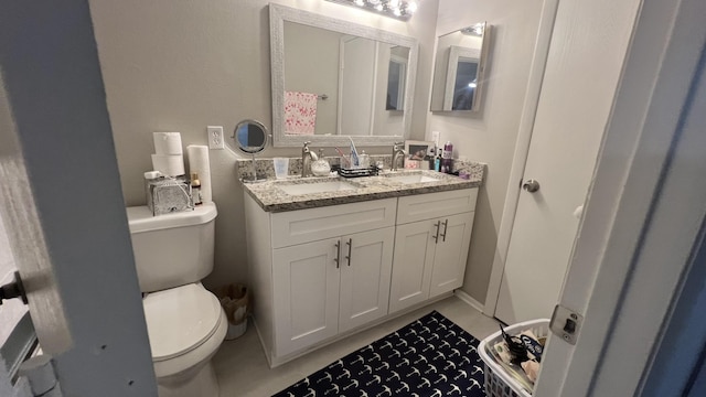
[[[145,191],[147,206],[154,216],[194,208],[191,183],[185,176],[146,180]]]

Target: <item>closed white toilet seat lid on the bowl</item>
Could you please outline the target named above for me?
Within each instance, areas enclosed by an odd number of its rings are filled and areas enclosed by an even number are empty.
[[[142,305],[154,363],[199,347],[225,318],[218,299],[201,283],[149,293]]]

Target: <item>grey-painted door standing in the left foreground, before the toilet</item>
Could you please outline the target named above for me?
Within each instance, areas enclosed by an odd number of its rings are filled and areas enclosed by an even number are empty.
[[[0,3],[0,216],[64,395],[157,395],[86,1]]]

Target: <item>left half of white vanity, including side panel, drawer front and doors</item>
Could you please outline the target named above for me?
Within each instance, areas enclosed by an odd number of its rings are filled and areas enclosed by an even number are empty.
[[[255,321],[271,365],[387,314],[397,198],[284,213],[245,201]]]

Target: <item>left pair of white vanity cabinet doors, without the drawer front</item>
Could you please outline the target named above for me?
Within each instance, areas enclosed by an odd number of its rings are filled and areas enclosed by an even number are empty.
[[[279,355],[387,314],[394,236],[389,226],[274,250]]]

